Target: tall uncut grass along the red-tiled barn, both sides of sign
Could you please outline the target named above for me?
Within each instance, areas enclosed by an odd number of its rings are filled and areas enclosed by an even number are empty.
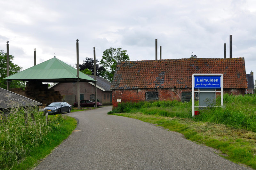
[[[223,107],[201,110],[200,114],[193,120],[221,123],[229,127],[244,128],[256,132],[256,95],[224,94],[223,101]],[[216,104],[220,105],[220,96],[217,97]],[[192,119],[192,102],[182,103],[174,100],[120,103],[109,113],[121,112],[141,112],[143,114]]]

